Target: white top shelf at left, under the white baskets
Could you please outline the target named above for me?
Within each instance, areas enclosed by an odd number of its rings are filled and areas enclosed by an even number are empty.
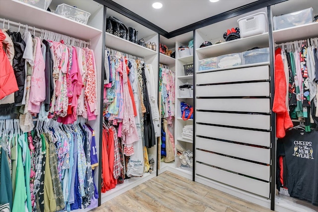
[[[0,17],[85,41],[102,33],[94,27],[18,0],[0,0]]]

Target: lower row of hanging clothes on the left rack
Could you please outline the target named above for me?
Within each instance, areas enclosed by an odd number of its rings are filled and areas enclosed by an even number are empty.
[[[1,150],[1,192],[11,192],[7,196],[1,195],[1,206],[8,203],[12,211],[18,212],[71,211],[82,206],[87,208],[93,196],[98,199],[90,163],[90,155],[94,154],[96,145],[93,144],[94,149],[91,149],[93,130],[87,124],[62,127],[55,121],[49,121],[38,124],[34,131],[24,134],[18,129],[18,123],[15,127],[0,128],[0,145],[7,145],[1,135],[16,141],[12,142],[9,154]],[[16,154],[12,151],[15,148]],[[8,159],[12,162],[12,179]],[[97,165],[98,160],[94,158],[94,167]],[[8,176],[5,178],[6,173]],[[2,182],[7,183],[4,185]],[[13,199],[10,200],[10,197]]]

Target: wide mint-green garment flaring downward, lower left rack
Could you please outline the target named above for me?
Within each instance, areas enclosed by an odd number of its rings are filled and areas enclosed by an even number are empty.
[[[12,212],[24,212],[26,201],[26,190],[24,180],[24,167],[22,162],[22,148],[20,144],[23,144],[24,136],[20,136],[19,144],[17,144],[18,154],[16,163],[16,177],[15,177],[15,192],[13,199]]]

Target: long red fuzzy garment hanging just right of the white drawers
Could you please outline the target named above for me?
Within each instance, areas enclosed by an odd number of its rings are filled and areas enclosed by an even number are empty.
[[[275,51],[275,95],[273,103],[273,112],[276,113],[276,137],[284,138],[285,131],[293,127],[293,122],[286,108],[286,77],[284,72],[284,63],[281,56],[281,49]]]

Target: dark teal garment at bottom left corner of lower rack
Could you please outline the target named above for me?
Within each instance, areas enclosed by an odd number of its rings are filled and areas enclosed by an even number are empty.
[[[0,147],[0,205],[9,203],[12,210],[12,184],[6,151]]]

